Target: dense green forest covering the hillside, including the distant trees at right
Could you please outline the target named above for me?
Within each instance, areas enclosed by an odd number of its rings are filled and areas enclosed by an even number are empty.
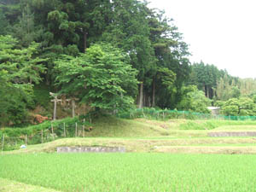
[[[147,2],[2,0],[0,28],[2,126],[26,125],[38,105],[51,113],[40,89],[96,112],[216,105],[256,114],[256,81],[191,64],[182,33]]]

